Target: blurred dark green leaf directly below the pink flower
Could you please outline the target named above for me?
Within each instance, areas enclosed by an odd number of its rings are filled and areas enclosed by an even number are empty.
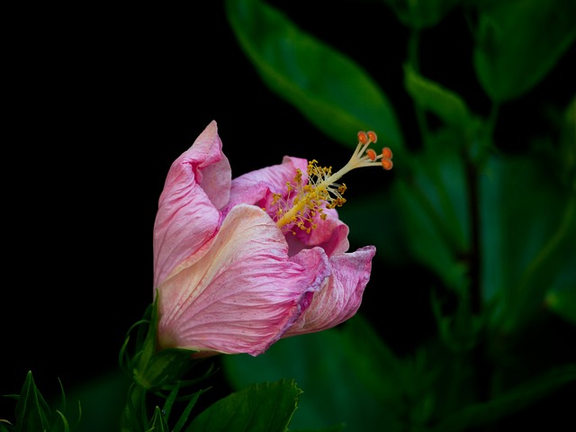
[[[398,430],[388,421],[390,413],[350,373],[353,366],[338,329],[281,339],[261,356],[224,356],[221,360],[236,389],[294,378],[303,394],[291,428],[332,428],[345,423],[347,432],[364,432],[374,425]]]

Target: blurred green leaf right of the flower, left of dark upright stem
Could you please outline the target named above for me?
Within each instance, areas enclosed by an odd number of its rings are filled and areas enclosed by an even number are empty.
[[[411,157],[413,176],[392,187],[399,204],[403,235],[419,262],[439,275],[446,286],[467,286],[470,247],[468,191],[460,135],[439,130],[430,146]]]

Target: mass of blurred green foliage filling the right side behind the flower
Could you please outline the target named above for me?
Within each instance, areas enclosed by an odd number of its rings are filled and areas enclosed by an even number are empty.
[[[543,107],[549,130],[533,131],[527,122],[518,137],[529,138],[517,138],[515,152],[500,148],[495,131],[508,127],[502,107],[522,101],[566,60],[576,40],[576,3],[384,2],[410,31],[403,80],[396,83],[413,103],[411,120],[422,138],[410,146],[394,139],[404,136],[396,107],[376,85],[360,84],[368,76],[362,65],[302,31],[282,6],[256,0],[226,5],[257,73],[311,124],[346,145],[340,139],[352,129],[392,137],[385,143],[395,155],[392,186],[339,213],[350,238],[378,247],[375,259],[390,266],[418,263],[440,281],[429,286],[436,338],[414,347],[411,356],[396,356],[356,316],[341,331],[282,340],[258,358],[226,358],[231,383],[242,388],[296,378],[305,390],[296,427],[299,421],[302,428],[341,421],[346,430],[379,425],[438,432],[495,424],[573,384],[573,356],[559,361],[554,350],[539,353],[537,361],[525,356],[540,349],[532,332],[545,332],[552,314],[576,324],[576,96],[566,106]],[[433,34],[448,14],[469,25],[473,45],[462,61],[491,103],[486,113],[456,86],[419,69],[424,31]],[[386,56],[385,49],[376,51]],[[576,93],[573,80],[557,85]],[[410,305],[402,307],[410,314]]]

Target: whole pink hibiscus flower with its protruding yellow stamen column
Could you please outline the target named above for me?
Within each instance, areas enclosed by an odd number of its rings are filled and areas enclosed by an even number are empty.
[[[257,356],[279,338],[352,317],[370,278],[374,246],[347,252],[335,207],[350,169],[392,167],[360,132],[350,162],[332,175],[284,157],[232,179],[215,121],[170,167],[154,225],[159,347],[196,356]]]

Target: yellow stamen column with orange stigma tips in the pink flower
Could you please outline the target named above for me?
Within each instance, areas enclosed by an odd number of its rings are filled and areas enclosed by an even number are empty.
[[[273,195],[272,209],[267,209],[276,220],[278,228],[296,235],[298,230],[307,234],[316,229],[320,220],[326,220],[326,209],[341,207],[345,202],[346,184],[340,179],[356,168],[382,166],[392,169],[392,150],[384,147],[380,154],[370,144],[378,140],[372,130],[358,132],[358,145],[350,160],[337,172],[331,166],[320,166],[316,159],[308,163],[306,175],[297,169],[293,181],[286,183],[285,193]]]

